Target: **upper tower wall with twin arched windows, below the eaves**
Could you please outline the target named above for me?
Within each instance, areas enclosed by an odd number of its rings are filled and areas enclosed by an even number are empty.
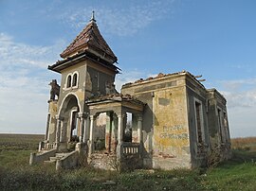
[[[78,86],[66,88],[66,78],[78,72]],[[69,94],[77,96],[81,111],[86,111],[84,100],[90,96],[95,96],[100,90],[101,95],[105,95],[105,82],[115,80],[115,72],[97,65],[94,61],[86,60],[74,64],[62,71],[61,91],[58,101],[58,108],[61,109],[64,98]]]

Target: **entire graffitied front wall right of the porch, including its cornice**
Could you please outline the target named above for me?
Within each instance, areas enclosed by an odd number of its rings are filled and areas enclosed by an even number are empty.
[[[143,113],[144,166],[191,167],[184,76],[125,85],[121,93],[147,103]]]

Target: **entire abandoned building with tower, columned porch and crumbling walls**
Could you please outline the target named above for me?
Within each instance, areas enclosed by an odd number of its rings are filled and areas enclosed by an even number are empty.
[[[207,165],[211,153],[229,158],[225,97],[187,71],[141,78],[118,93],[118,58],[94,14],[61,57],[48,66],[62,80],[50,83],[46,137],[30,165],[171,169]]]

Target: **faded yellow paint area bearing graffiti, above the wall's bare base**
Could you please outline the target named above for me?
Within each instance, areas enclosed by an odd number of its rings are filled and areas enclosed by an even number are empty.
[[[155,92],[154,141],[156,152],[182,154],[189,147],[189,130],[185,88]],[[174,147],[170,150],[170,147]]]

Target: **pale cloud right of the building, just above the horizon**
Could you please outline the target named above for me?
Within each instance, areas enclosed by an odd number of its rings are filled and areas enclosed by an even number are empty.
[[[256,78],[221,81],[227,98],[232,137],[255,136]]]

